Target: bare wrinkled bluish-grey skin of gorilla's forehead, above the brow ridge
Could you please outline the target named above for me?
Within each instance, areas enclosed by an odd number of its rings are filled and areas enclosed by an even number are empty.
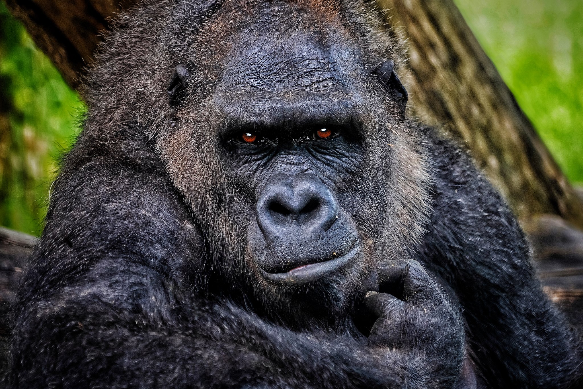
[[[264,36],[238,34],[222,69],[220,87],[268,87],[270,92],[297,93],[306,89],[338,90],[360,71],[356,48],[342,45],[340,40],[331,43],[321,33],[300,29],[269,32]]]

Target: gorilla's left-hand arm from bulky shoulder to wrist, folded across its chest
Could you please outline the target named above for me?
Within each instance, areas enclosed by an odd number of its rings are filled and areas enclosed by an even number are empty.
[[[184,215],[155,171],[94,160],[62,174],[16,303],[13,387],[399,388],[455,380],[459,359],[443,369],[441,350],[292,332],[220,297],[189,296],[181,258],[200,248],[189,242],[195,232]],[[458,327],[424,329],[447,350],[463,348]]]

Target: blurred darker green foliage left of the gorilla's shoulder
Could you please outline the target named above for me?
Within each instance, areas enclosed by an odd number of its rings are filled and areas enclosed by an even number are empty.
[[[0,2],[0,225],[38,234],[83,104]]]

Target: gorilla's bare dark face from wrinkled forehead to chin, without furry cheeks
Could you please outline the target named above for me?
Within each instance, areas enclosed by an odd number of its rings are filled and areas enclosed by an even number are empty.
[[[231,59],[215,102],[233,172],[254,183],[248,243],[266,281],[315,282],[354,266],[361,254],[339,201],[363,164],[361,99],[314,36],[242,45],[257,50]],[[291,51],[283,59],[282,46]]]

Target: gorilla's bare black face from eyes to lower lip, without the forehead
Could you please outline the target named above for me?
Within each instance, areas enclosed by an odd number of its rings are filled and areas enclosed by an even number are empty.
[[[312,116],[271,131],[241,127],[247,129],[234,127],[227,142],[241,176],[262,178],[248,232],[261,275],[270,282],[300,284],[353,264],[361,244],[339,202],[337,184],[357,174],[362,159],[354,124]]]

